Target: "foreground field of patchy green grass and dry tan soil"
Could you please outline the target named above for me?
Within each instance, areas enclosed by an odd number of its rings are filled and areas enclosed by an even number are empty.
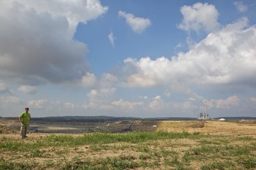
[[[155,132],[0,134],[0,169],[256,169],[255,129],[163,121]]]

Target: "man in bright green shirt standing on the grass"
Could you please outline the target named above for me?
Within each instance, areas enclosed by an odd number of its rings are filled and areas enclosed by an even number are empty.
[[[20,127],[20,138],[24,139],[24,138],[28,138],[28,136],[26,135],[28,132],[28,128],[29,128],[29,121],[31,118],[30,113],[28,113],[29,108],[25,109],[24,113],[21,113],[19,116],[19,120],[21,123],[21,127]]]

